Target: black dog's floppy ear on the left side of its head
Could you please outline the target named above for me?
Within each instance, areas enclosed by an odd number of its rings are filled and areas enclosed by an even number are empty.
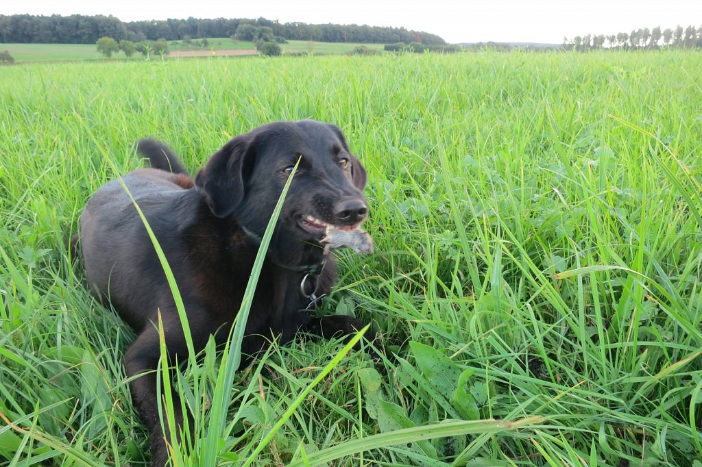
[[[245,159],[251,157],[249,133],[235,137],[197,172],[195,186],[217,217],[227,217],[244,199]]]

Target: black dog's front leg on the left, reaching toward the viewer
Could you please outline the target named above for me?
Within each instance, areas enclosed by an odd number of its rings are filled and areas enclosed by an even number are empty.
[[[177,355],[187,355],[185,343],[178,345],[178,341],[181,340],[183,339],[178,339],[177,336],[168,336],[168,360],[173,360]],[[183,348],[180,348],[181,346]],[[147,326],[139,334],[134,344],[124,354],[127,376],[130,378],[134,377],[129,383],[132,400],[150,433],[152,467],[166,465],[168,462],[166,442],[171,440],[167,422],[164,420],[164,430],[162,430],[159,421],[156,371],[160,356],[159,334],[156,328],[151,325]],[[171,381],[164,381],[164,384],[171,384]],[[180,439],[180,430],[183,428],[183,410],[180,407],[178,394],[175,391],[171,391],[171,394],[173,395],[173,415],[175,417],[176,430],[178,431],[178,439]],[[192,430],[193,424],[190,414],[187,414],[187,417]]]

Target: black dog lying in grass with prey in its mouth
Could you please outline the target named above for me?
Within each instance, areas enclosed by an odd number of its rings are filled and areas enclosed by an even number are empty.
[[[298,170],[275,227],[246,324],[242,351],[260,351],[272,335],[298,330],[323,337],[362,328],[355,318],[314,318],[313,292],[336,282],[320,240],[327,226],[355,229],[368,212],[366,171],[336,126],[317,121],[270,123],[235,137],[193,180],[168,147],[144,140],[153,168],[123,177],[164,250],[183,297],[195,351],[208,337],[223,342],[239,310],[260,238],[293,166]],[[185,337],[166,276],[131,198],[118,180],[101,187],[81,217],[81,248],[95,295],[138,332],[125,354],[135,406],[151,433],[152,465],[168,461],[158,419],[160,310],[168,357],[187,358]],[[307,280],[303,278],[307,276]],[[175,395],[174,395],[175,397]],[[180,402],[174,400],[182,426]],[[165,433],[166,437],[168,433]]]

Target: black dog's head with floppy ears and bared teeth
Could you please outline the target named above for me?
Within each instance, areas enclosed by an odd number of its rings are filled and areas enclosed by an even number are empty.
[[[256,128],[216,152],[195,184],[214,215],[233,216],[260,237],[298,161],[269,255],[283,265],[314,262],[327,226],[354,229],[368,213],[366,170],[336,126],[303,120]]]

